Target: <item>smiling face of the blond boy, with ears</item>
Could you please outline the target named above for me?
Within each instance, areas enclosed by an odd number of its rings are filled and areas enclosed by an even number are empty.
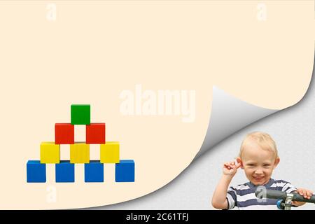
[[[250,141],[243,148],[237,162],[242,163],[241,168],[244,169],[247,179],[258,186],[268,183],[279,161],[274,152],[264,150],[254,141]]]

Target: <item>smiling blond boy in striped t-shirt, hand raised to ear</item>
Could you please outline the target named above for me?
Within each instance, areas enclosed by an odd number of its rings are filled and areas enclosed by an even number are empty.
[[[281,190],[286,193],[297,192],[304,198],[310,198],[311,190],[294,188],[289,182],[274,180],[271,178],[274,168],[280,159],[276,144],[269,134],[253,132],[246,136],[241,143],[237,164],[225,162],[223,176],[214,191],[212,206],[216,209],[277,209],[276,200],[267,199],[262,202],[255,197],[258,186],[265,186],[270,190]],[[248,183],[238,186],[230,186],[237,169],[244,169]],[[304,202],[293,202],[294,206],[300,206]]]

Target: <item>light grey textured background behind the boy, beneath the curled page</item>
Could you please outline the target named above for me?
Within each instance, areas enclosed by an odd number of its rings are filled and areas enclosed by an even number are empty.
[[[314,70],[313,70],[314,76]],[[269,133],[279,149],[280,163],[273,178],[290,181],[315,192],[315,82],[295,106],[274,113],[239,130],[211,148],[167,186],[136,200],[94,209],[214,209],[211,197],[222,175],[222,165],[233,160],[248,132]],[[232,184],[246,182],[240,170]],[[293,208],[295,209],[295,208]],[[315,209],[305,204],[297,209]]]

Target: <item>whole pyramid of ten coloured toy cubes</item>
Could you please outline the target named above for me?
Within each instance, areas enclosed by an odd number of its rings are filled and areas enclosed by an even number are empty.
[[[55,124],[55,142],[41,143],[41,160],[27,162],[27,182],[45,183],[46,164],[55,164],[55,181],[75,182],[76,164],[84,164],[85,182],[104,182],[104,164],[115,164],[116,182],[134,182],[134,160],[120,160],[118,141],[105,141],[105,123],[90,123],[88,104],[71,105],[71,123]],[[74,141],[74,125],[86,126],[86,141]],[[60,145],[70,145],[70,160],[60,160]],[[90,144],[99,144],[100,160],[90,160]]]

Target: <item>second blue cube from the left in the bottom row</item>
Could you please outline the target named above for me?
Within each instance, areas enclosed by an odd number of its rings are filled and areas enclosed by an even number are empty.
[[[56,182],[72,183],[74,182],[74,164],[69,160],[62,160],[56,164]]]

